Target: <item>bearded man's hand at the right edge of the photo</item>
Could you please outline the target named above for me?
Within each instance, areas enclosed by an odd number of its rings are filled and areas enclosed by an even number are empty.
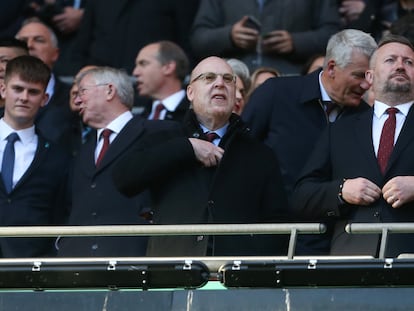
[[[382,195],[393,208],[414,200],[414,176],[397,176],[382,188]]]

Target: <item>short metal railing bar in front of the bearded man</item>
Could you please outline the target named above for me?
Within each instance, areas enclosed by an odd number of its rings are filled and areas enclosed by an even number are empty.
[[[383,229],[387,229],[389,233],[414,233],[414,223],[352,223],[345,227],[345,231],[350,234],[380,234]]]

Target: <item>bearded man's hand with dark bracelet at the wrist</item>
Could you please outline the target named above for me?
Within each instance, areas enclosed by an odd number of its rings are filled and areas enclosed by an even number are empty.
[[[381,189],[366,178],[347,179],[342,187],[342,199],[354,205],[369,205],[381,197]]]

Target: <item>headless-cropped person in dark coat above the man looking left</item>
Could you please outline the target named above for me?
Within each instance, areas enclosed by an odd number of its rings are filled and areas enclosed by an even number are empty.
[[[75,74],[88,64],[131,73],[137,51],[170,40],[189,50],[189,29],[199,0],[88,0],[76,38]]]

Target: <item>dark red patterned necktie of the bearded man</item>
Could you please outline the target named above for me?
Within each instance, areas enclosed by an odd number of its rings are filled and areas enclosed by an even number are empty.
[[[385,121],[384,126],[382,127],[380,144],[378,147],[378,165],[380,167],[381,173],[384,174],[385,169],[387,168],[388,159],[394,148],[394,136],[395,136],[395,123],[396,117],[395,114],[399,110],[397,108],[388,108],[388,119]]]

